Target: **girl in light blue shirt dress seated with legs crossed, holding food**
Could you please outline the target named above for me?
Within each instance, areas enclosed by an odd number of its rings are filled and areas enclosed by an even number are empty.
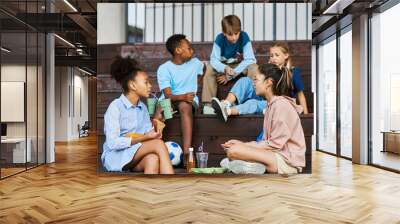
[[[111,65],[112,77],[122,86],[121,96],[111,102],[104,115],[101,160],[108,171],[143,171],[145,174],[173,174],[162,133],[154,130],[146,105],[151,91],[148,75],[135,60],[117,57]],[[137,133],[139,137],[126,137]]]

